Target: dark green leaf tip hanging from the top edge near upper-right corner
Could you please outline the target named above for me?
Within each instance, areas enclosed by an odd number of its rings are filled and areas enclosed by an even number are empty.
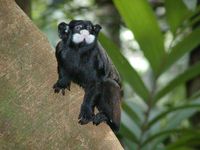
[[[183,0],[166,0],[165,8],[170,29],[172,33],[175,34],[178,27],[180,27],[180,25],[189,15],[190,11],[183,3]]]

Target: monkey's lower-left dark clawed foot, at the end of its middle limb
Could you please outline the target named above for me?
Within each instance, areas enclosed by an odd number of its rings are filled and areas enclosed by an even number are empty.
[[[93,120],[93,117],[94,117],[93,112],[89,108],[82,106],[81,112],[78,117],[79,119],[78,123],[81,125],[87,124]]]

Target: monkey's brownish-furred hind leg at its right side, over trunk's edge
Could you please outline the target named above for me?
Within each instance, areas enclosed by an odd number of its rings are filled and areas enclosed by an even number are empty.
[[[103,100],[106,104],[104,112],[108,117],[107,124],[114,132],[117,132],[121,120],[121,89],[115,80],[104,80]]]

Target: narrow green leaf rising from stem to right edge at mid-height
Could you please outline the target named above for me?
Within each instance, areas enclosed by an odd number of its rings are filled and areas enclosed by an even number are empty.
[[[175,77],[171,82],[169,82],[164,88],[162,88],[155,96],[155,101],[160,100],[164,95],[172,91],[175,87],[177,87],[180,84],[185,83],[186,81],[196,77],[200,74],[200,62],[189,67],[186,71],[184,71],[182,74]]]

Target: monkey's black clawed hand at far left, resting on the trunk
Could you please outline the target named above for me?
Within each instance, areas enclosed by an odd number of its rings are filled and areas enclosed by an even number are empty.
[[[60,90],[63,95],[65,95],[65,89],[70,91],[70,82],[67,82],[64,79],[59,79],[53,86],[54,93],[59,93]]]

